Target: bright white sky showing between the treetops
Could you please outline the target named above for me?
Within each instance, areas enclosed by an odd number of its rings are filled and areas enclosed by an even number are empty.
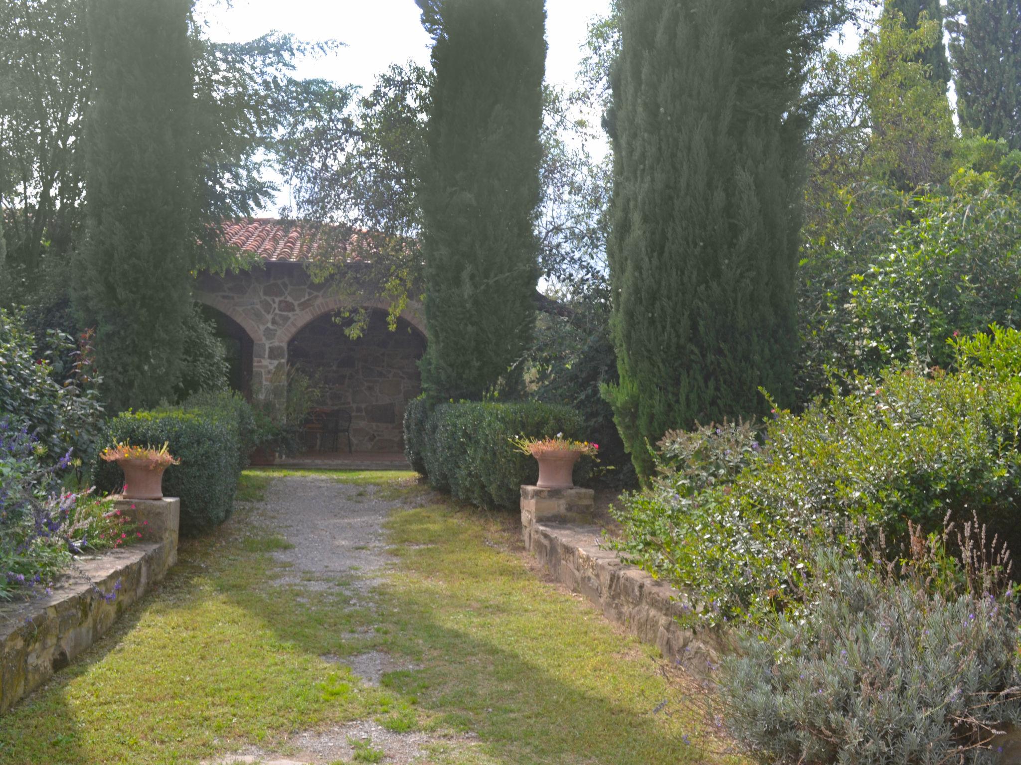
[[[609,8],[609,0],[547,0],[549,83],[575,82],[588,22]],[[346,46],[329,56],[302,60],[297,72],[302,78],[369,90],[391,63],[429,63],[432,41],[422,29],[415,0],[199,0],[197,11],[209,37],[221,42],[243,42],[276,30],[306,42],[336,40]],[[286,201],[286,194],[282,190],[278,201]],[[276,214],[277,206],[263,214]]]

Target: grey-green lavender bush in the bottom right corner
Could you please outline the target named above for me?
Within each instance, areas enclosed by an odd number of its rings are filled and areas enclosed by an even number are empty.
[[[1015,596],[816,568],[811,612],[745,631],[723,661],[723,719],[750,761],[1001,762],[993,731],[1021,722]]]

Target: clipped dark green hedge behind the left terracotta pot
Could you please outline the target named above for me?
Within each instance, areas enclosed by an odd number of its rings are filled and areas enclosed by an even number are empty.
[[[181,498],[181,532],[194,536],[231,516],[238,476],[248,454],[243,401],[217,396],[204,406],[126,412],[110,420],[102,446],[131,442],[139,446],[169,444],[180,465],[167,468],[163,493]],[[243,405],[243,406],[242,406]],[[249,430],[250,432],[250,430]],[[124,473],[113,463],[98,460],[94,480],[103,492],[119,491]]]

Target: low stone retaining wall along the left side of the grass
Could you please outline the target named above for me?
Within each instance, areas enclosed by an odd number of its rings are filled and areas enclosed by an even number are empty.
[[[180,500],[117,507],[139,523],[141,543],[78,558],[51,594],[0,607],[0,714],[95,643],[177,562]]]

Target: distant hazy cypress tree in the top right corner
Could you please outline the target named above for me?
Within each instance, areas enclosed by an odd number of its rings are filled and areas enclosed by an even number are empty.
[[[1021,149],[1021,0],[957,0],[953,7],[961,122]]]

